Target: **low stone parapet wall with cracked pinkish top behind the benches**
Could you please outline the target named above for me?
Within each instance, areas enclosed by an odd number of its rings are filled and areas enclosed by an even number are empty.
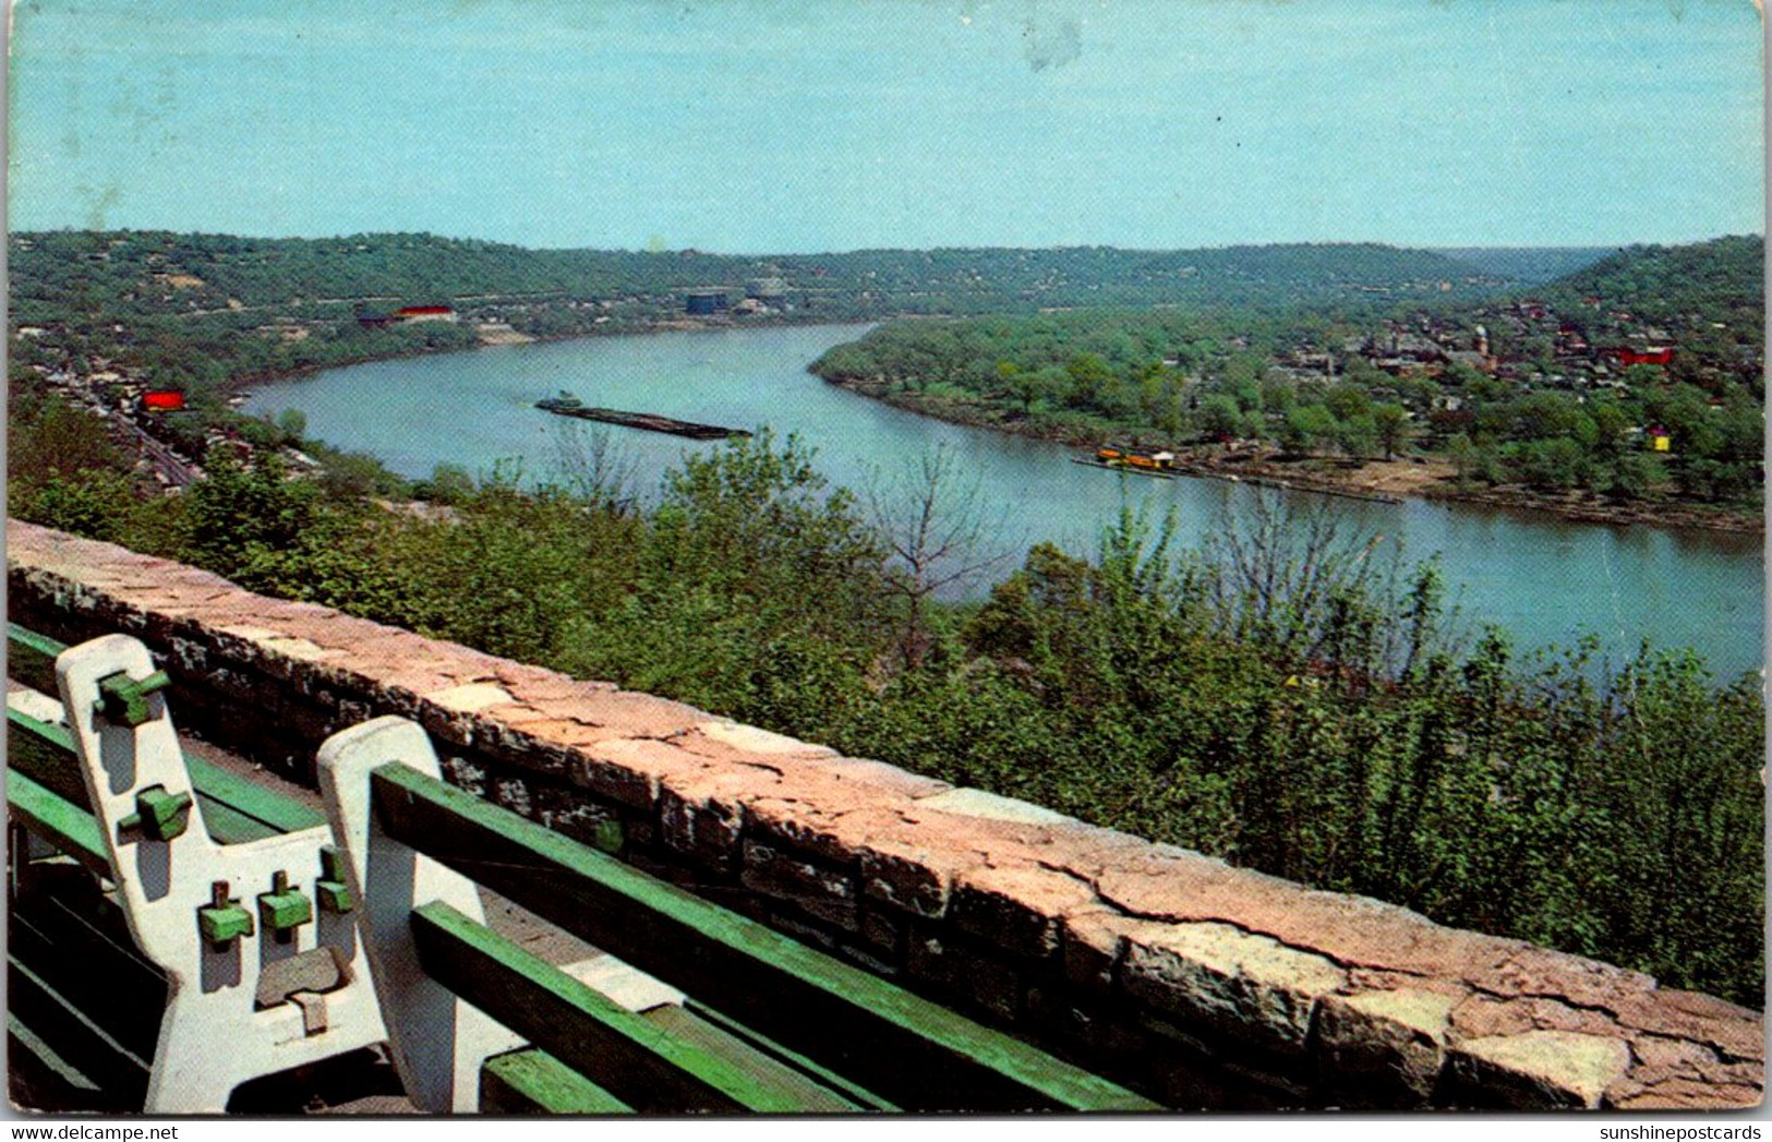
[[[450,778],[1178,1108],[1751,1107],[1758,1013],[7,521],[9,608],[124,631],[174,718],[310,777],[416,718]]]

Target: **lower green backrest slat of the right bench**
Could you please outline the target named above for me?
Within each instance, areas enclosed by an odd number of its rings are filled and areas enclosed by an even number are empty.
[[[415,908],[411,924],[425,974],[641,1112],[806,1110],[448,904]]]

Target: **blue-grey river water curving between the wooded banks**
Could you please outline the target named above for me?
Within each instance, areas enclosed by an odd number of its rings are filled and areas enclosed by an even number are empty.
[[[1223,481],[1150,481],[1072,465],[1074,449],[918,417],[804,371],[826,348],[865,330],[679,332],[374,362],[259,387],[246,411],[298,408],[308,434],[370,452],[409,477],[425,477],[443,461],[478,473],[512,459],[532,475],[548,475],[562,431],[578,422],[533,403],[562,388],[587,404],[797,433],[819,449],[819,468],[856,491],[890,484],[946,445],[968,479],[976,479],[992,543],[1014,553],[996,576],[1033,541],[1093,551],[1123,497],[1148,505],[1154,518],[1173,509],[1187,544],[1223,509],[1246,507],[1253,495]],[[718,447],[604,431],[645,489],[686,450]],[[1719,677],[1763,661],[1765,559],[1756,536],[1568,523],[1414,500],[1327,502],[1348,527],[1400,541],[1409,559],[1437,553],[1462,615],[1499,622],[1522,649],[1595,635],[1609,656],[1621,658],[1650,638],[1659,647],[1698,649]]]

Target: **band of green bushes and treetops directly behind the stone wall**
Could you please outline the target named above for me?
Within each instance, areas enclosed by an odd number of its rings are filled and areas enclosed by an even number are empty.
[[[1552,442],[1554,443],[1554,442]],[[177,500],[39,484],[39,518],[494,654],[652,690],[1448,922],[1756,1002],[1763,702],[1689,656],[1462,649],[1432,564],[1258,498],[1175,551],[1122,512],[1037,546],[902,654],[884,537],[769,434],[656,512],[498,472],[388,511],[220,461]],[[135,504],[112,518],[110,507]],[[151,511],[158,527],[131,512]]]

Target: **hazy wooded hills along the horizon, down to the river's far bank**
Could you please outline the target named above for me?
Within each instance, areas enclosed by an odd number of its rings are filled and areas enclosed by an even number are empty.
[[[572,337],[656,328],[682,316],[684,291],[723,287],[741,298],[758,280],[780,291],[767,317],[796,321],[1051,305],[1357,303],[1370,291],[1423,293],[1430,282],[1457,282],[1460,291],[1504,282],[1444,255],[1389,246],[732,257],[525,250],[431,234],[48,231],[11,236],[9,261],[12,326],[34,330],[12,337],[14,376],[105,362],[198,397],[230,381],[477,344],[470,328],[454,325],[358,323],[422,303],[533,337]]]

